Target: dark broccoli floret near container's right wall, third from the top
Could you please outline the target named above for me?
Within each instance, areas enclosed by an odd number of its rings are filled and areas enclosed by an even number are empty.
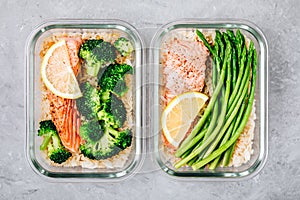
[[[127,64],[111,64],[101,73],[98,84],[101,90],[111,91],[122,96],[127,91],[127,86],[124,80],[126,73],[133,73],[133,68]]]

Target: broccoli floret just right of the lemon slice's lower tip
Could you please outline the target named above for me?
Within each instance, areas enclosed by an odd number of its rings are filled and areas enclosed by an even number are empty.
[[[86,119],[96,119],[97,113],[100,110],[100,93],[97,88],[94,88],[89,82],[80,85],[80,90],[83,96],[76,99],[78,111]]]

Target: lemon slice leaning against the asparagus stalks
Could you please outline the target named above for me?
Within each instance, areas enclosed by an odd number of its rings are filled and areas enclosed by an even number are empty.
[[[185,138],[191,124],[208,97],[200,92],[187,92],[175,97],[161,116],[163,134],[174,147]]]

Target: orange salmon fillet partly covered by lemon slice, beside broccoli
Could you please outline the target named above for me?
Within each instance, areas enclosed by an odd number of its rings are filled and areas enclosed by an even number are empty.
[[[80,70],[78,51],[82,44],[81,39],[65,38],[70,63],[75,76]],[[65,99],[48,91],[47,99],[50,102],[50,114],[55,124],[62,144],[71,152],[78,152],[81,143],[79,128],[81,124],[80,113],[76,101]]]

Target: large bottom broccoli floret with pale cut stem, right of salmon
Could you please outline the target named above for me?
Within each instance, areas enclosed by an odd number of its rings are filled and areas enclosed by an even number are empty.
[[[80,145],[81,153],[93,160],[102,160],[117,155],[131,145],[131,131],[117,131],[107,128],[104,135],[95,143]]]

